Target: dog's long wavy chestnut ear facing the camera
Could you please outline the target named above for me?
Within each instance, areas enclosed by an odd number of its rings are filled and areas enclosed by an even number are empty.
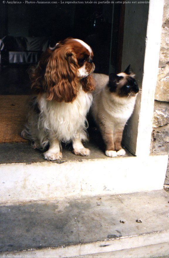
[[[69,47],[56,48],[48,59],[45,71],[47,100],[72,102],[77,97],[78,64],[74,51]]]

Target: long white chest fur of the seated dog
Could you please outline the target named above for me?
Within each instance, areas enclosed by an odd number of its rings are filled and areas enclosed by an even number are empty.
[[[43,126],[52,135],[63,141],[75,137],[78,130],[85,128],[86,115],[92,103],[92,94],[82,89],[72,103],[47,101],[46,96],[40,101]]]

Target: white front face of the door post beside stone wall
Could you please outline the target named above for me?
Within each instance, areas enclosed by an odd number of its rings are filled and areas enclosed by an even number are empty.
[[[164,0],[150,0],[136,156],[150,154]]]

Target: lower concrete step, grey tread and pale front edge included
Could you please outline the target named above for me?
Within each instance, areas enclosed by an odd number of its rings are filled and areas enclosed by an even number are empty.
[[[164,190],[6,204],[0,219],[0,257],[169,254]]]

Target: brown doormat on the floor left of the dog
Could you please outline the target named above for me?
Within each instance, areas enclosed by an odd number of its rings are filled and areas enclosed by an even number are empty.
[[[0,143],[28,142],[21,137],[28,113],[28,95],[0,95]]]

